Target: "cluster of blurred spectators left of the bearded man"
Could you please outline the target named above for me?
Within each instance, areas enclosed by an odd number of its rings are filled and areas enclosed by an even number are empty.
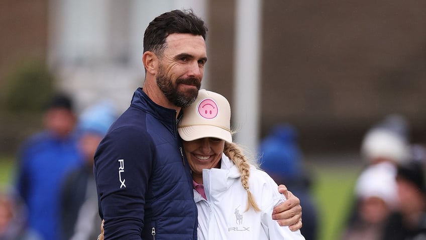
[[[108,101],[78,116],[73,105],[55,95],[44,109],[45,129],[20,147],[16,180],[0,198],[0,239],[96,239],[93,156],[118,115]]]

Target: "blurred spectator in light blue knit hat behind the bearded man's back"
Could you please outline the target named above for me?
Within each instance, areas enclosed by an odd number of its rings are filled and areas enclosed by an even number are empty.
[[[80,114],[76,131],[84,164],[64,176],[61,191],[62,239],[93,240],[99,233],[93,156],[99,142],[117,119],[112,102],[101,100]]]

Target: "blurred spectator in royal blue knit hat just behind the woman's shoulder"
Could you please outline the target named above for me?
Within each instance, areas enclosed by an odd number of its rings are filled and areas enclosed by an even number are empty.
[[[303,165],[303,152],[298,144],[298,132],[288,123],[277,124],[259,144],[260,168],[277,184],[292,189],[303,209],[303,228],[306,240],[317,239],[318,209],[311,195],[312,176]]]

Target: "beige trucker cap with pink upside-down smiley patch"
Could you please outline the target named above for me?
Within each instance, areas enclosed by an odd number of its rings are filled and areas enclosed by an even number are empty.
[[[195,102],[182,111],[177,131],[183,140],[216,137],[232,142],[231,107],[224,96],[201,89]]]

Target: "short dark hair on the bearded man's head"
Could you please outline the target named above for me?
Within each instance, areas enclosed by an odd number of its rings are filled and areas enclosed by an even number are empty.
[[[173,10],[163,13],[149,23],[144,34],[144,52],[161,54],[167,36],[173,33],[189,33],[202,36],[205,40],[207,27],[192,10]]]

